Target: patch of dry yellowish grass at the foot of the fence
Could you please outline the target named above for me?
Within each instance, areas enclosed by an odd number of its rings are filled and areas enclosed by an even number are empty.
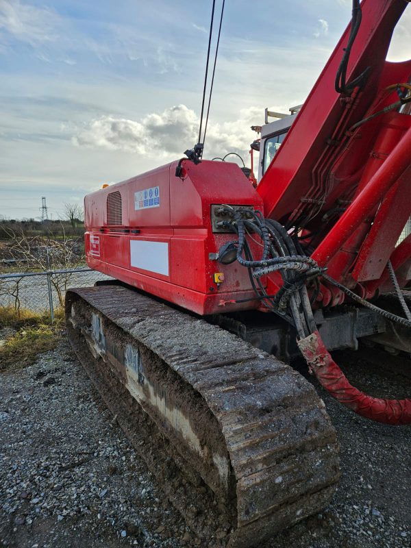
[[[0,371],[15,371],[33,364],[39,353],[55,348],[61,338],[64,312],[55,312],[52,324],[48,314],[30,310],[0,308],[0,327],[10,333],[0,346]]]

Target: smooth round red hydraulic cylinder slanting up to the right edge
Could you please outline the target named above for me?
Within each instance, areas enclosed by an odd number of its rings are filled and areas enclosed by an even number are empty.
[[[319,247],[312,253],[312,258],[320,264],[326,266],[329,260],[343,246],[347,238],[360,223],[369,215],[375,206],[381,201],[382,197],[395,184],[398,177],[410,165],[411,150],[411,127],[404,134],[401,141],[390,153],[384,164],[371,177],[369,183],[354,199],[351,206],[337,223],[329,231]]]

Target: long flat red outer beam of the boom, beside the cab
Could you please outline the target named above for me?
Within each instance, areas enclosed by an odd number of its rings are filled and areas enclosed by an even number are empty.
[[[393,29],[407,3],[404,0],[364,0],[361,5],[362,24],[351,50],[347,80],[371,66],[367,88],[378,88]],[[347,45],[349,29],[338,42],[258,186],[266,216],[277,221],[292,212],[301,196],[306,194],[310,174],[344,112],[345,103],[340,103],[340,95],[334,90],[334,79]],[[374,94],[375,90],[362,99],[361,114]],[[359,115],[358,120],[361,117]]]

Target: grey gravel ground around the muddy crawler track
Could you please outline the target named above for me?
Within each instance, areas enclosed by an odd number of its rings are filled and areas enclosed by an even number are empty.
[[[379,373],[366,353],[339,353],[338,362],[359,388],[410,394],[410,379]],[[341,445],[338,491],[322,514],[264,548],[410,547],[410,428],[371,423],[324,399]],[[0,548],[128,545],[201,544],[63,339],[33,366],[0,376]]]

